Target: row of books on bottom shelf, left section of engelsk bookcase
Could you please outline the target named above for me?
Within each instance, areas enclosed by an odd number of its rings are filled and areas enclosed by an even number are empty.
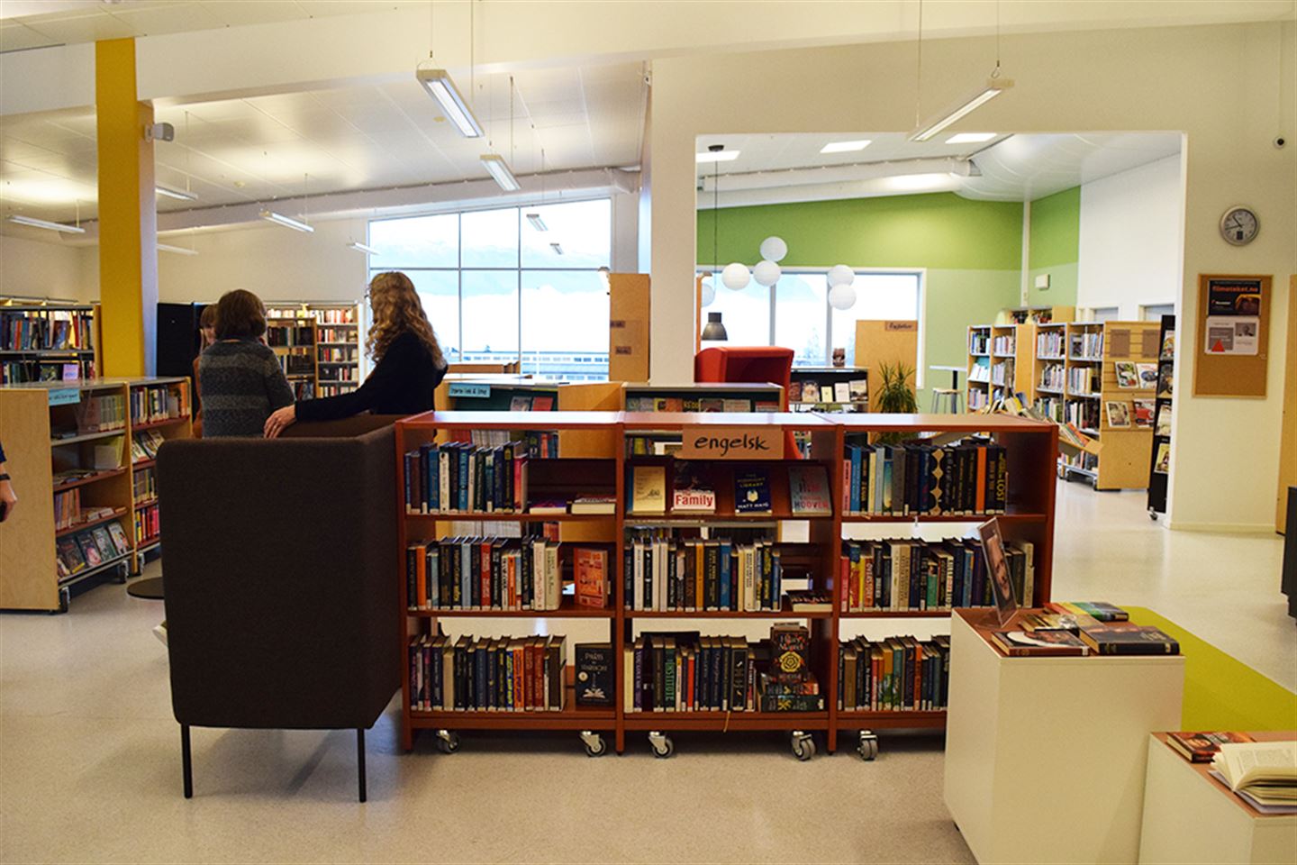
[[[567,705],[567,637],[446,637],[409,645],[415,712],[560,712]]]

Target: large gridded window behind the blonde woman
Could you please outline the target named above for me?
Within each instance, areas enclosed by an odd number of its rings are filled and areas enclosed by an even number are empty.
[[[375,219],[370,245],[379,250],[371,278],[399,270],[414,280],[451,363],[518,361],[533,375],[608,377],[599,268],[611,266],[610,200]]]

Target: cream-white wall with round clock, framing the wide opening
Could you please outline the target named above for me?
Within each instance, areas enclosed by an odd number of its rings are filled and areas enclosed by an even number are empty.
[[[953,101],[984,78],[983,39],[939,40],[923,57],[923,105]],[[956,130],[1014,132],[1179,130],[1187,134],[1180,309],[1197,303],[1198,272],[1274,274],[1271,322],[1284,322],[1284,287],[1297,270],[1297,130],[1292,22],[1006,35],[1005,74],[1017,86]],[[914,123],[914,44],[860,44],[751,53],[715,52],[654,62],[652,379],[691,377],[696,206],[694,143],[706,134],[908,131]],[[1237,80],[1253,86],[1239,88]],[[1217,224],[1230,205],[1258,207],[1266,226],[1232,248]],[[1180,316],[1178,344],[1195,345]],[[1270,338],[1270,396],[1213,399],[1178,389],[1172,528],[1272,532],[1280,396],[1287,362]],[[1193,353],[1176,379],[1192,381]],[[1246,441],[1246,447],[1230,442]]]

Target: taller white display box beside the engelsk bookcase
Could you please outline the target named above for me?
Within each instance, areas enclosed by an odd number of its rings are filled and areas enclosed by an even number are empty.
[[[1180,724],[1184,658],[1005,658],[986,616],[951,617],[946,807],[964,840],[979,862],[1134,862],[1148,735]]]

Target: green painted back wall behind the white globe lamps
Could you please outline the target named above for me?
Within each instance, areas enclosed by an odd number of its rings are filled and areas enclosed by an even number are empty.
[[[698,261],[712,261],[715,211],[698,214]],[[1017,306],[1022,268],[1022,205],[973,201],[949,192],[848,198],[720,211],[721,266],[760,259],[761,240],[783,237],[783,267],[923,267],[927,270],[923,384],[948,388],[948,372],[931,364],[968,362],[968,326],[995,320]],[[725,290],[725,289],[721,289]],[[964,377],[960,376],[962,386]]]

